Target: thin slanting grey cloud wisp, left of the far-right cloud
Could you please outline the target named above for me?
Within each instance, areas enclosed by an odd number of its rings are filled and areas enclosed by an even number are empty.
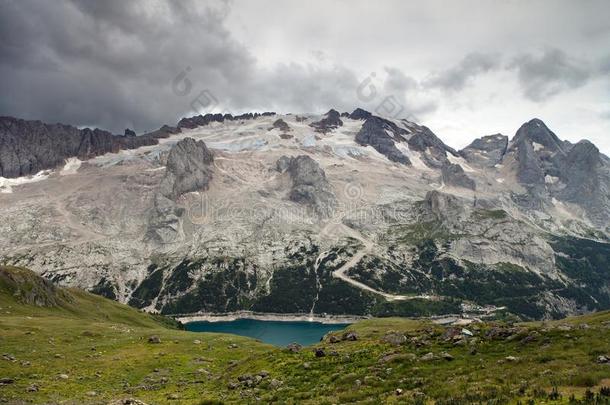
[[[427,87],[440,87],[448,91],[459,91],[476,76],[489,72],[499,65],[499,55],[478,52],[470,53],[456,66],[433,74],[424,81],[424,85]]]

